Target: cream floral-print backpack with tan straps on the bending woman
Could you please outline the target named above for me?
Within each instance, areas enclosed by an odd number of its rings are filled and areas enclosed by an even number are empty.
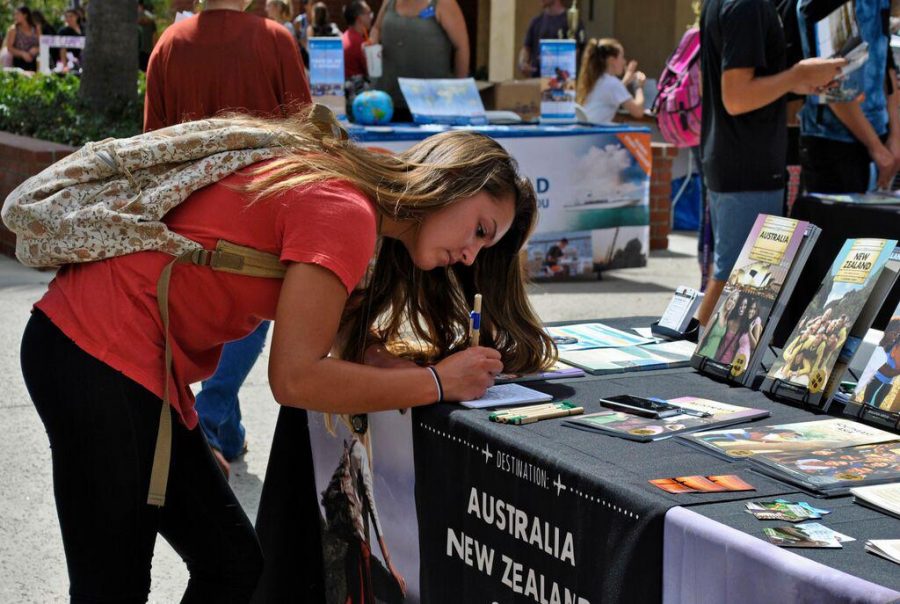
[[[323,105],[313,106],[308,119],[335,138],[347,138]],[[168,292],[174,265],[266,278],[285,272],[277,256],[228,241],[205,250],[170,231],[162,218],[194,191],[279,156],[286,136],[213,118],[88,143],[16,187],[0,211],[16,234],[16,257],[27,266],[58,267],[147,250],[173,256],[157,281],[166,381],[147,496],[151,505],[165,504],[171,458]]]

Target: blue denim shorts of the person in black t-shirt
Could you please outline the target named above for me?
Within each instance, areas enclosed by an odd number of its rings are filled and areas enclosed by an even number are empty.
[[[747,235],[759,214],[781,216],[784,211],[784,189],[775,191],[740,191],[718,193],[709,191],[709,213],[712,222],[713,279],[727,281]]]

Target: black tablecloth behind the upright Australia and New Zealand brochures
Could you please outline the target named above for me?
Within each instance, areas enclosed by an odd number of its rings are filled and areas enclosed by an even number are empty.
[[[807,196],[797,198],[791,216],[815,224],[822,229],[822,234],[813,247],[794,289],[794,295],[788,300],[778,324],[773,339],[777,346],[784,345],[794,325],[800,321],[803,311],[828,273],[844,241],[858,237],[886,239],[900,237],[900,204],[860,205]],[[884,329],[898,302],[900,302],[900,281],[894,285],[878,313],[873,325],[875,329]]]

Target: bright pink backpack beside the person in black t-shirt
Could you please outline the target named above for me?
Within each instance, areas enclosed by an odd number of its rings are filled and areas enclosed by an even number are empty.
[[[692,27],[666,61],[653,102],[660,133],[676,147],[700,144],[700,85],[700,30]]]

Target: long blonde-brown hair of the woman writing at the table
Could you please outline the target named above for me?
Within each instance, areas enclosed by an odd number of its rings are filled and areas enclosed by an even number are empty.
[[[371,199],[380,215],[414,224],[481,191],[514,200],[509,231],[482,249],[472,266],[423,271],[401,241],[384,238],[366,286],[347,302],[341,324],[343,358],[362,361],[373,340],[428,362],[461,350],[468,344],[469,308],[481,293],[481,341],[500,351],[506,371],[534,372],[555,360],[556,348],[528,301],[520,254],[537,221],[537,198],[496,141],[450,131],[392,155],[346,140],[330,113],[322,117],[307,110],[283,120],[236,119],[267,123],[286,141],[285,155],[260,168],[248,185],[256,199],[339,179]]]

